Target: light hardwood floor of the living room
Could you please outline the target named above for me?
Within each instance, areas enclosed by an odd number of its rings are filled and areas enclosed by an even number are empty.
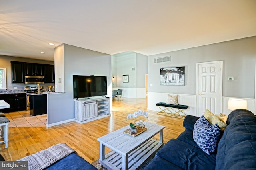
[[[106,135],[112,131],[128,125],[126,121],[129,113],[138,109],[147,111],[146,99],[124,98],[123,101],[114,101],[110,117],[98,119],[84,124],[75,121],[56,125],[53,127],[9,127],[9,147],[4,148],[0,143],[0,154],[6,160],[18,160],[22,157],[34,154],[58,143],[66,143],[78,154],[92,163],[99,158],[98,137]],[[184,127],[183,119],[157,115],[155,111],[148,111],[149,122],[164,125],[164,142],[171,138],[176,138]],[[138,119],[147,121],[143,116]],[[137,119],[137,120],[138,120]],[[159,135],[154,137],[159,139]],[[110,149],[106,148],[106,153]]]

